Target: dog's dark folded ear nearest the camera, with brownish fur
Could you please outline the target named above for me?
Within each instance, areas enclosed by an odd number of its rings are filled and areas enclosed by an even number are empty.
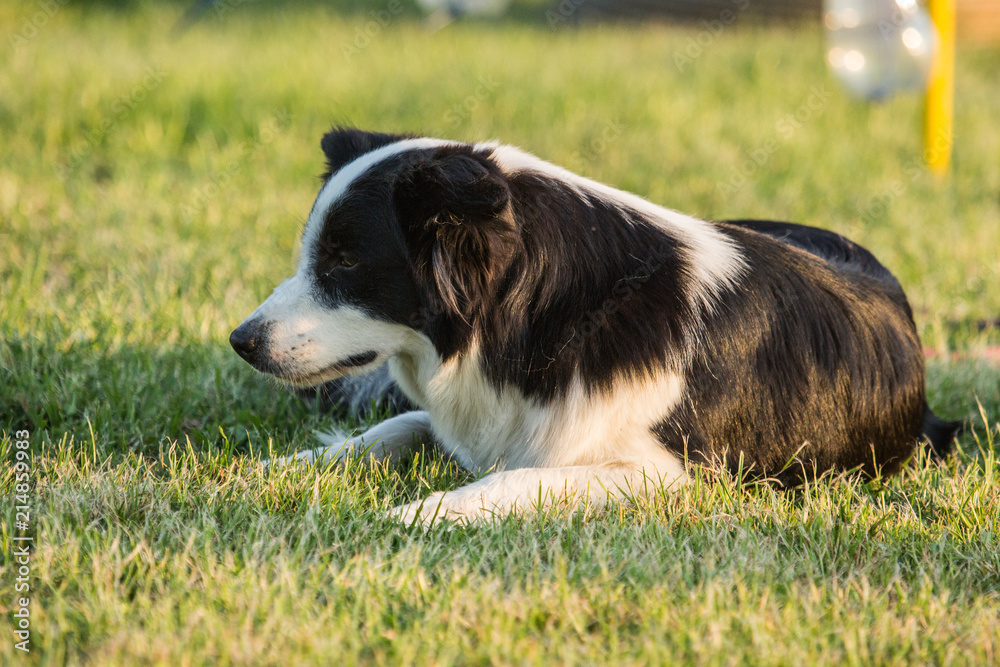
[[[507,177],[469,146],[438,149],[405,168],[393,203],[432,307],[470,322],[520,244]]]

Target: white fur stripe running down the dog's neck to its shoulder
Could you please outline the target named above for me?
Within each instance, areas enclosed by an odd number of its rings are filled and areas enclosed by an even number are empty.
[[[705,220],[659,206],[642,197],[593,181],[514,146],[495,142],[476,144],[477,149],[493,151],[493,159],[507,173],[536,171],[563,181],[580,191],[600,195],[611,202],[641,213],[666,231],[677,234],[691,247],[690,258],[698,288],[692,296],[711,309],[714,297],[732,285],[743,273],[746,262],[736,245]]]

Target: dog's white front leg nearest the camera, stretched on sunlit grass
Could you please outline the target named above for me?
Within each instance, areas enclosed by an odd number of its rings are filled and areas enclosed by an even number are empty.
[[[649,497],[656,489],[686,481],[684,465],[663,451],[642,462],[618,461],[590,466],[521,468],[487,475],[454,491],[431,494],[392,510],[406,524],[437,519],[482,521],[558,504],[600,507],[613,498]]]

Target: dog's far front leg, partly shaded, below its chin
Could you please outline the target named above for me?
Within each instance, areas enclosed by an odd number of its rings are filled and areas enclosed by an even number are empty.
[[[431,420],[426,412],[418,410],[386,419],[361,435],[351,437],[340,433],[321,433],[318,437],[322,447],[275,459],[268,465],[326,463],[359,456],[366,461],[381,461],[390,457],[398,460],[421,442],[431,440]]]

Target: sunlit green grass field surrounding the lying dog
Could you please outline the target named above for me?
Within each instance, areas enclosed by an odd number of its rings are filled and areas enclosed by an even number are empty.
[[[0,663],[1000,661],[1000,334],[979,326],[1000,317],[1000,50],[959,51],[938,182],[920,100],[848,98],[818,27],[550,29],[535,3],[430,32],[389,2],[385,26],[230,2],[173,35],[183,6],[30,23],[42,5],[0,8]],[[688,213],[851,236],[911,297],[959,453],[427,532],[384,511],[467,479],[433,454],[264,471],[330,418],[226,341],[294,266],[333,123],[499,138]],[[5,625],[20,429],[27,655]]]

